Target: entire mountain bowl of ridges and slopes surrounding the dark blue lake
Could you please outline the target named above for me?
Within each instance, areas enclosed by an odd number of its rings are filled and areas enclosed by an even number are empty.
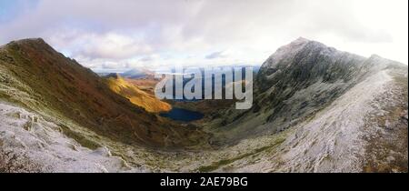
[[[2,45],[0,172],[408,171],[407,65],[298,38],[254,70],[249,109],[159,100],[159,82]]]

